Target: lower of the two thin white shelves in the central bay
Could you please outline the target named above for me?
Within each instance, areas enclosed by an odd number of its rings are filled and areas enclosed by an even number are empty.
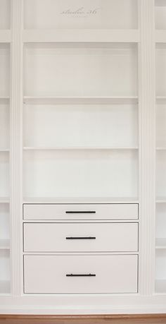
[[[84,146],[62,146],[62,147],[29,147],[25,146],[23,147],[24,151],[57,151],[57,150],[138,150],[138,147],[84,147]]]

